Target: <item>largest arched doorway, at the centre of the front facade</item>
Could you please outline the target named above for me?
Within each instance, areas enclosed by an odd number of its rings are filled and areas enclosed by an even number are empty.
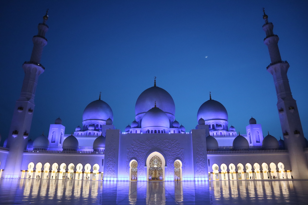
[[[159,152],[152,152],[146,161],[147,165],[147,180],[163,181],[165,175],[165,158]]]

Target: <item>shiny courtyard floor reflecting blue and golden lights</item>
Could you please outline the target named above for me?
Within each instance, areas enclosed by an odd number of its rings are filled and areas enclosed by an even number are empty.
[[[0,179],[0,204],[308,204],[308,180]]]

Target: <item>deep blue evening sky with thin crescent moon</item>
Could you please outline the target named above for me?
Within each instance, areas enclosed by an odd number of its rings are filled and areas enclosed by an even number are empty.
[[[41,63],[30,136],[48,133],[60,116],[66,133],[82,124],[83,109],[107,102],[124,130],[135,103],[153,86],[167,90],[176,120],[189,131],[209,99],[221,102],[236,131],[253,116],[282,136],[273,78],[263,44],[262,7],[280,38],[282,60],[308,136],[308,16],[306,1],[2,1],[0,3],[0,133],[8,135],[15,101],[30,60],[37,25],[49,8],[48,44]],[[279,2],[279,3],[278,3]],[[208,56],[205,58],[205,56]]]

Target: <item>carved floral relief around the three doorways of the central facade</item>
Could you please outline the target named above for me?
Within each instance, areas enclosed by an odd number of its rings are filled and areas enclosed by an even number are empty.
[[[146,154],[150,150],[161,150],[163,154],[166,156],[167,161],[167,175],[168,177],[173,176],[173,162],[176,159],[181,160],[182,162],[182,170],[185,172],[185,159],[183,154],[183,148],[180,148],[180,144],[177,140],[134,140],[130,149],[128,149],[127,160],[126,160],[126,172],[129,173],[129,162],[132,159],[136,159],[138,161],[138,170],[139,176],[144,177],[144,160]],[[154,152],[154,151],[153,151]],[[164,166],[164,165],[163,165]]]

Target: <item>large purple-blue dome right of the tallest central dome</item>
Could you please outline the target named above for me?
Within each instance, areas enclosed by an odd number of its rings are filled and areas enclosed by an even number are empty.
[[[228,112],[226,108],[218,101],[208,100],[203,103],[197,113],[197,120],[203,118],[207,120],[226,120],[228,121]]]

